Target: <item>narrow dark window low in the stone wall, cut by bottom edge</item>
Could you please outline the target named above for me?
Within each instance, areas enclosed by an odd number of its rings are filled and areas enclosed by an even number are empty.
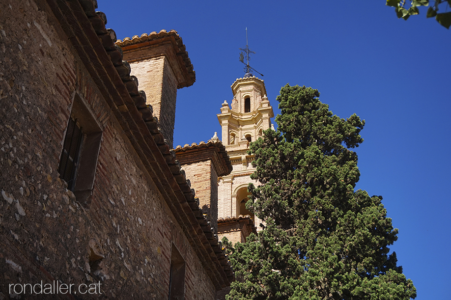
[[[185,260],[172,244],[169,273],[169,300],[185,299]]]

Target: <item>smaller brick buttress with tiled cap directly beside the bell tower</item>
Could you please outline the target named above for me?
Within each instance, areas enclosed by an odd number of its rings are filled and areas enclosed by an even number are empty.
[[[186,144],[175,149],[191,188],[199,198],[199,207],[218,232],[218,177],[230,174],[232,165],[221,141]]]

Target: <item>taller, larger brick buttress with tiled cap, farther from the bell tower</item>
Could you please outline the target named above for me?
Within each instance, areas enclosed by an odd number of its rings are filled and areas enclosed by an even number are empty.
[[[182,38],[175,30],[161,30],[132,39],[126,37],[116,45],[122,48],[123,59],[132,69],[130,74],[138,78],[146,102],[152,106],[161,132],[172,148],[177,89],[196,81]]]

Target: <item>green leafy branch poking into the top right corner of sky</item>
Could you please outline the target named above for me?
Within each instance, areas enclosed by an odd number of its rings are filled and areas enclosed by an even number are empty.
[[[429,0],[413,0],[410,1],[410,7],[406,5],[407,0],[387,0],[386,5],[395,7],[395,12],[398,18],[407,20],[410,16],[420,14],[419,6],[428,6]],[[451,11],[447,11],[451,6],[451,0],[434,0],[434,4],[429,6],[426,12],[426,18],[435,17],[440,25],[447,27],[451,26]],[[440,5],[443,4],[443,5]],[[439,9],[445,12],[439,13]]]

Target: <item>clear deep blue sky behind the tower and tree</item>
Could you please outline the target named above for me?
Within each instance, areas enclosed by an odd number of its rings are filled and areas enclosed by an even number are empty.
[[[399,228],[398,264],[417,300],[450,300],[451,31],[421,15],[398,20],[384,0],[98,0],[122,39],[175,29],[197,81],[178,91],[174,145],[221,132],[216,114],[256,54],[275,113],[281,86],[306,85],[338,116],[366,120],[358,188],[382,195]]]

